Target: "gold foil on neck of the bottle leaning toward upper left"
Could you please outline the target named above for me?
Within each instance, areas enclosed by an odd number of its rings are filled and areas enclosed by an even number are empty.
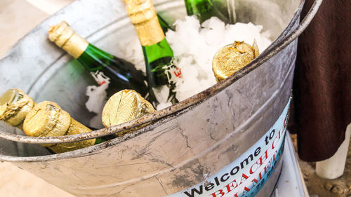
[[[76,59],[84,53],[89,44],[88,41],[74,32],[65,21],[50,27],[48,39]]]

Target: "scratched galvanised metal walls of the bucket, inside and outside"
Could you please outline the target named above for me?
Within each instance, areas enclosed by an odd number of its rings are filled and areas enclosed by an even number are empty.
[[[154,5],[170,23],[185,17],[183,0],[154,0]],[[298,26],[302,5],[300,0],[236,0],[235,11],[238,22],[263,25],[277,43]],[[84,106],[85,90],[93,79],[83,68],[67,67],[71,57],[46,39],[48,27],[61,20],[119,57],[123,44],[137,39],[122,1],[75,1],[33,29],[0,61],[0,93],[20,88],[36,102],[58,102],[87,124],[94,114]],[[234,161],[277,121],[291,93],[296,44],[230,86],[218,91],[215,86],[181,102],[182,110],[134,135],[55,155],[39,144],[1,139],[0,161],[77,196],[166,196],[181,191]],[[4,123],[0,129],[23,135]],[[280,165],[276,168],[258,195],[270,195]]]

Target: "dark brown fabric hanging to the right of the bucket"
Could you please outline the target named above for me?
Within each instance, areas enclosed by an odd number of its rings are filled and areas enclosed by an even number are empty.
[[[306,0],[301,19],[313,1]],[[298,38],[289,130],[304,161],[333,156],[351,123],[350,8],[350,0],[324,0]]]

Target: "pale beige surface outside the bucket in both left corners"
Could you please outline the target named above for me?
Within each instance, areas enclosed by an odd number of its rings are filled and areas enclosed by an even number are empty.
[[[0,57],[25,34],[73,0],[1,0],[0,1]],[[47,9],[46,9],[47,8]],[[72,197],[66,191],[48,184],[43,179],[0,162],[0,196],[6,197]]]

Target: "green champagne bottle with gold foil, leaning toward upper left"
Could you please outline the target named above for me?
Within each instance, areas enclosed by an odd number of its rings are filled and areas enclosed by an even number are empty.
[[[48,39],[76,58],[91,72],[99,85],[110,82],[107,95],[126,88],[147,95],[143,72],[135,69],[131,62],[115,57],[88,43],[62,21],[48,31]]]

